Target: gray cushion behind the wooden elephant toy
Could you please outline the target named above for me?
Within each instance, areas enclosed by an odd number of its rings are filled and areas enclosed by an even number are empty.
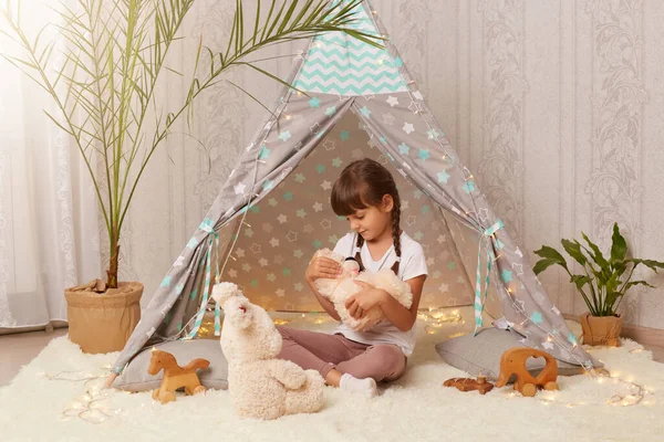
[[[481,370],[489,380],[497,380],[500,373],[500,357],[513,347],[523,347],[509,330],[485,328],[477,336],[473,334],[459,336],[436,344],[438,355],[453,367],[475,377]],[[529,358],[526,368],[537,376],[544,367],[543,358]],[[558,360],[559,376],[573,376],[583,372],[583,368]]]

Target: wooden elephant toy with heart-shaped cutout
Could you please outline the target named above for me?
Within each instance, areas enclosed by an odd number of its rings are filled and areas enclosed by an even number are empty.
[[[544,358],[547,362],[537,377],[530,375],[526,369],[526,360],[530,357]],[[505,351],[500,358],[500,375],[498,376],[496,387],[505,387],[512,375],[517,377],[515,390],[518,390],[523,396],[535,396],[538,387],[544,390],[558,390],[558,383],[556,383],[556,379],[558,378],[558,362],[548,352],[523,347],[510,348]]]

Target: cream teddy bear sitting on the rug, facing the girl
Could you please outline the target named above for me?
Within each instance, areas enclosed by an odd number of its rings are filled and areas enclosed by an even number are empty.
[[[228,360],[228,390],[237,413],[277,419],[319,411],[323,378],[315,370],[274,359],[282,339],[268,313],[232,283],[216,284],[212,298],[224,308],[221,350]]]

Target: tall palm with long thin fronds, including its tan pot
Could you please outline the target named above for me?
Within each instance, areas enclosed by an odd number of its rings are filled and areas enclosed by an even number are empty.
[[[178,31],[196,0],[80,0],[74,9],[63,1],[56,11],[58,23],[33,39],[21,25],[20,0],[7,1],[1,12],[24,57],[3,56],[54,102],[58,113],[46,116],[71,136],[83,157],[108,235],[105,281],[65,290],[72,341],[87,352],[120,350],[138,323],[143,285],[117,278],[123,225],[149,159],[174,124],[184,115],[190,117],[193,103],[234,66],[283,83],[247,61],[266,46],[332,31],[381,46],[381,38],[350,28],[361,2],[332,7],[330,0],[271,0],[261,11],[261,1],[257,1],[246,27],[242,1],[237,0],[228,45],[215,52],[200,40],[188,94],[168,110],[164,97],[155,93],[156,86],[174,72],[165,61],[180,40]],[[44,40],[49,28],[54,28],[64,44]],[[53,63],[53,53],[58,63]],[[200,69],[204,63],[205,70]],[[155,120],[147,124],[153,109]]]

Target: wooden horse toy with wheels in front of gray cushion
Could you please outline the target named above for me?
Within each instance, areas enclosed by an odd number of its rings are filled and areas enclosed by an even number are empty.
[[[175,400],[175,390],[183,387],[187,396],[205,392],[205,387],[200,385],[196,370],[206,369],[209,365],[209,360],[198,358],[187,364],[186,367],[180,367],[177,365],[175,356],[168,351],[153,349],[147,372],[154,376],[164,369],[162,386],[153,391],[153,399],[158,399],[162,403],[170,402]]]

